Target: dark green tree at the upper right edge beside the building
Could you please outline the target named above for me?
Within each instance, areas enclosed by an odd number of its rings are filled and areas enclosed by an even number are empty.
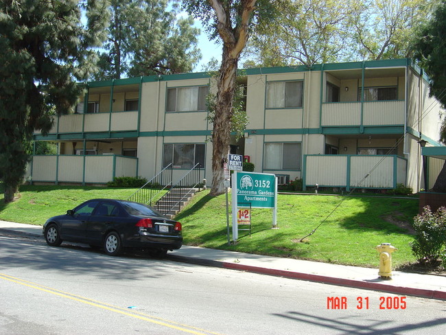
[[[442,1],[431,21],[420,30],[414,43],[414,57],[430,76],[430,95],[446,107],[446,1]],[[440,139],[446,143],[446,121]],[[446,192],[446,162],[433,187],[434,192]]]

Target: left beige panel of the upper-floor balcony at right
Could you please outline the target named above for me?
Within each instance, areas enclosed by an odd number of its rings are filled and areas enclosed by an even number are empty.
[[[360,121],[360,102],[322,104],[322,126],[358,126]]]

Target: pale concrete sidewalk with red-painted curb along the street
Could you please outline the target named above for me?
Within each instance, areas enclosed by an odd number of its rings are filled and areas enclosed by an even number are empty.
[[[43,238],[42,227],[31,224],[0,221],[0,230],[38,235]],[[204,266],[218,266],[264,275],[446,300],[446,276],[441,275],[393,271],[391,280],[383,280],[379,279],[377,268],[251,255],[196,246],[182,246],[180,250],[168,253],[167,258]]]

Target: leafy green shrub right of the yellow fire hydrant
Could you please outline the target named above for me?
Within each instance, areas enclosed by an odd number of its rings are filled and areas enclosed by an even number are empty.
[[[435,265],[438,258],[446,266],[446,207],[432,213],[429,206],[415,216],[416,238],[412,242],[412,252],[419,262]]]

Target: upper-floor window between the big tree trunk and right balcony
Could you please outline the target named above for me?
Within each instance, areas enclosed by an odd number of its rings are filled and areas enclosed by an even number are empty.
[[[266,108],[302,107],[303,82],[268,82]]]

